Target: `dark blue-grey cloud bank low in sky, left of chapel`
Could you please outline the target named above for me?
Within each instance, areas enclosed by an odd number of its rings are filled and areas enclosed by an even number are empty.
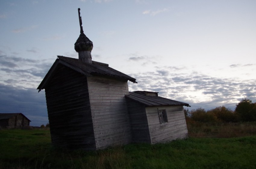
[[[23,113],[31,120],[32,126],[48,123],[45,92],[0,83],[0,95],[1,113]]]

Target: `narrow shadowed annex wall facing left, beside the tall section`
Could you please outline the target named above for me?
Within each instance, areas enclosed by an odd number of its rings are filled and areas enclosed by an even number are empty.
[[[126,98],[126,103],[129,111],[132,142],[151,143],[145,105],[132,101],[129,98]]]

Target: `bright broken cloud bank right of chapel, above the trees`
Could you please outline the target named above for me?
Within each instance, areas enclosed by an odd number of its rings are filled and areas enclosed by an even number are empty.
[[[129,83],[129,90],[159,92],[159,96],[183,101],[193,109],[227,106],[234,109],[242,98],[256,102],[254,79],[210,77],[199,72],[184,74],[179,67],[155,67],[155,71],[130,74],[138,84]]]

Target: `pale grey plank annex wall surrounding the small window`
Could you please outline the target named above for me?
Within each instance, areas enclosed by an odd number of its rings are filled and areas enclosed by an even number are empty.
[[[160,124],[158,109],[165,109],[167,123]],[[183,106],[146,107],[151,143],[163,143],[188,135]]]

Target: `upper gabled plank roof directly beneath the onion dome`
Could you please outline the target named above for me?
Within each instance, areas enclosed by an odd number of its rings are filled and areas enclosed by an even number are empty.
[[[133,77],[130,77],[111,67],[108,67],[108,64],[95,61],[92,61],[92,64],[90,64],[82,62],[79,59],[58,56],[58,59],[55,60],[54,64],[52,65],[52,67],[50,68],[50,70],[38,86],[37,89],[39,89],[39,91],[41,89],[44,89],[48,81],[51,79],[52,74],[55,72],[57,65],[59,64],[65,65],[81,74],[84,74],[85,76],[107,76],[123,80],[130,80],[133,83],[137,83],[136,79],[134,79]]]

